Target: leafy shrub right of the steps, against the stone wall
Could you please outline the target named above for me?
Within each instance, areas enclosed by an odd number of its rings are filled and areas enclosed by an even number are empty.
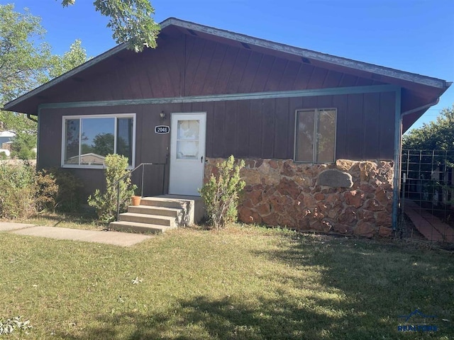
[[[218,176],[211,174],[209,181],[202,186],[199,193],[204,200],[211,227],[218,229],[227,223],[236,222],[238,200],[245,187],[245,181],[240,178],[243,160],[235,165],[235,159],[231,156],[216,166],[219,170]]]

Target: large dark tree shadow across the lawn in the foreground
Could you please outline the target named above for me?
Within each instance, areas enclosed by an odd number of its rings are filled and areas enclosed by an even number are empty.
[[[104,314],[96,320],[99,326],[60,336],[74,340],[362,340],[408,339],[407,335],[412,339],[453,339],[453,329],[440,324],[442,317],[453,312],[453,266],[437,263],[434,254],[330,239],[283,242],[274,251],[256,255],[281,269],[253,275],[275,287],[282,283],[284,289],[244,299],[188,297],[150,314]],[[289,270],[282,272],[282,264]],[[308,276],[315,273],[314,277],[306,279],[306,272]],[[438,314],[438,332],[398,331],[398,316],[417,307],[426,314]]]

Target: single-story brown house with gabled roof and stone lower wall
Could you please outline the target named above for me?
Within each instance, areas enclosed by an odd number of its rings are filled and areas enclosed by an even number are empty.
[[[102,166],[84,155],[116,152],[155,164],[144,195],[196,196],[233,154],[245,222],[392,232],[402,130],[450,83],[177,18],[161,28],[155,50],[118,45],[6,104],[38,116],[38,168],[72,169],[92,192]]]

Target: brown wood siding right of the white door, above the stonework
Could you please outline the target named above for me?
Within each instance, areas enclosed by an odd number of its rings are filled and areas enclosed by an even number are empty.
[[[300,108],[337,108],[336,159],[392,159],[393,93],[215,103],[206,111],[206,157],[292,159]]]

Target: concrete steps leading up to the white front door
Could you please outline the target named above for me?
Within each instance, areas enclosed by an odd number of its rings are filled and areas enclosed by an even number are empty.
[[[160,233],[193,225],[203,216],[199,197],[158,196],[140,199],[140,205],[129,205],[128,212],[111,222],[109,229],[129,232]]]

